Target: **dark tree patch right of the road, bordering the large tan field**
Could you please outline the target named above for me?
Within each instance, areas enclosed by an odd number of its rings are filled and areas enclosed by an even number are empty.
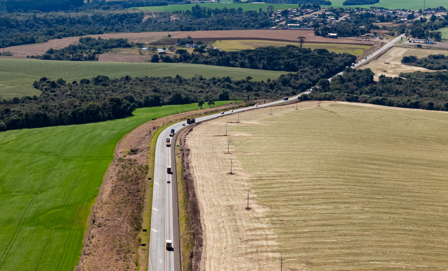
[[[379,76],[370,69],[347,68],[343,75],[321,80],[301,100],[329,100],[379,104],[405,108],[448,111],[448,72],[401,73],[400,77]]]

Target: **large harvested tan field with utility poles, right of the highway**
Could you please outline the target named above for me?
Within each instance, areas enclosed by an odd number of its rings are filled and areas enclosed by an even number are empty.
[[[277,270],[279,257],[288,271],[446,270],[448,115],[337,102],[269,110],[187,136],[201,270]]]

